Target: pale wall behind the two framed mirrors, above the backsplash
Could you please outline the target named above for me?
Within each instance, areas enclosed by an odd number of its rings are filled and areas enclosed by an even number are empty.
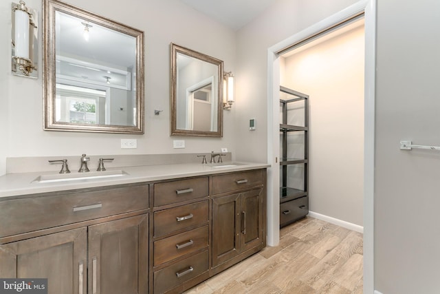
[[[169,154],[209,152],[228,147],[234,152],[234,109],[225,112],[223,138],[177,137],[186,140],[186,149],[173,149],[170,134],[170,43],[203,52],[224,61],[234,72],[235,33],[225,26],[185,6],[181,1],[89,1],[68,3],[144,31],[145,40],[145,134],[87,134],[43,131],[42,39],[40,39],[39,79],[10,74],[10,2],[1,1],[0,73],[0,174],[5,173],[5,157],[63,156],[80,154]],[[39,33],[43,28],[42,1],[27,0],[39,12]],[[159,116],[153,109],[164,110]],[[7,120],[3,123],[3,120]],[[3,138],[8,138],[7,143]],[[120,149],[121,138],[136,138],[137,149]]]

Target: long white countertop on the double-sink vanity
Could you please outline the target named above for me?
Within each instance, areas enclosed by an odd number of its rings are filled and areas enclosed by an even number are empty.
[[[235,165],[232,167],[212,166]],[[83,180],[70,180],[61,182],[35,182],[39,176],[56,174],[53,171],[41,173],[5,174],[0,176],[0,198],[15,198],[35,193],[47,193],[54,191],[67,191],[91,187],[103,187],[109,185],[122,185],[135,182],[151,182],[155,180],[168,180],[172,178],[185,178],[191,176],[207,176],[211,174],[223,174],[232,171],[246,171],[269,167],[264,163],[254,162],[223,162],[222,164],[181,163],[176,165],[145,165],[137,167],[120,167],[124,176],[112,178],[94,178]],[[107,169],[111,171],[111,169]],[[71,175],[78,174],[72,171]],[[3,199],[5,200],[5,199]]]

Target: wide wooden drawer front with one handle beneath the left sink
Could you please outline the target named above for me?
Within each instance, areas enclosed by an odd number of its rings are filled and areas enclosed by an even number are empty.
[[[148,185],[0,202],[0,237],[148,209]]]

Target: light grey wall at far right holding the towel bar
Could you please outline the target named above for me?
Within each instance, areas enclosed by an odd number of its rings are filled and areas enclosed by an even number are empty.
[[[440,293],[440,1],[377,1],[375,288]]]

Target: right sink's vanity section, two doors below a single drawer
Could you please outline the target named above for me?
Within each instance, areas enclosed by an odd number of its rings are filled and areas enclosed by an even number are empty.
[[[219,267],[214,272],[265,246],[264,186],[263,170],[212,177],[213,192],[223,192],[212,196],[212,267]]]

